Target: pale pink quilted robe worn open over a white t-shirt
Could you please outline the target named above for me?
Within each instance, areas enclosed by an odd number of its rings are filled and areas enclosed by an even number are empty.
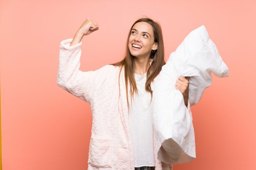
[[[90,103],[92,135],[88,170],[134,170],[124,73],[121,72],[119,81],[118,66],[80,71],[82,43],[70,46],[71,41],[61,42],[57,83],[65,91]],[[155,137],[154,151],[155,170],[172,170],[172,165],[157,159]]]

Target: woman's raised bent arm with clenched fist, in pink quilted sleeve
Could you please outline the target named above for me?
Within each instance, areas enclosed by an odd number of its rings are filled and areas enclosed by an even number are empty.
[[[101,69],[88,72],[79,70],[81,40],[84,35],[98,29],[97,23],[87,18],[74,35],[74,38],[63,40],[60,45],[57,84],[85,102],[90,102],[94,89],[94,79],[101,74],[101,71],[99,71]]]

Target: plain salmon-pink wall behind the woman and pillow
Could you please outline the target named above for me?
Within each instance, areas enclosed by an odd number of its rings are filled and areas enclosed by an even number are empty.
[[[162,25],[166,59],[204,24],[230,70],[192,107],[197,158],[174,169],[256,169],[255,0],[1,0],[3,170],[87,169],[90,106],[56,83],[59,43],[98,22],[82,45],[81,70],[94,70],[121,60],[143,15]]]

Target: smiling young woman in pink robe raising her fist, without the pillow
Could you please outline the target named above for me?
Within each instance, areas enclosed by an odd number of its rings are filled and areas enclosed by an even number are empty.
[[[61,42],[57,78],[59,86],[90,103],[88,170],[171,170],[172,165],[157,159],[151,120],[153,86],[165,64],[161,27],[149,18],[137,20],[129,31],[124,60],[82,72],[81,40],[98,29],[87,18],[73,39]],[[179,77],[176,82],[186,106],[188,80]]]

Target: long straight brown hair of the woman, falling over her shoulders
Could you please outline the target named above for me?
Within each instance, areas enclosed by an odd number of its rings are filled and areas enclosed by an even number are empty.
[[[152,59],[152,63],[147,71],[147,80],[145,84],[145,88],[147,92],[150,92],[151,99],[153,95],[153,91],[151,90],[151,82],[155,79],[155,77],[160,73],[162,66],[165,64],[164,62],[164,42],[163,42],[163,36],[162,36],[162,29],[161,26],[157,23],[151,20],[150,18],[141,18],[132,24],[130,28],[130,32],[128,34],[127,42],[126,42],[126,53],[123,60],[120,62],[110,64],[113,66],[120,66],[120,73],[119,73],[119,79],[121,70],[124,67],[124,78],[125,78],[125,84],[126,84],[126,99],[127,99],[127,105],[129,106],[128,102],[128,82],[130,84],[130,99],[134,97],[134,93],[138,93],[138,89],[136,86],[136,81],[134,77],[134,56],[131,55],[130,50],[128,48],[130,33],[132,31],[132,27],[138,23],[138,22],[146,22],[150,24],[153,28],[154,33],[154,42],[157,42],[157,50],[155,52],[151,52],[150,59]],[[120,84],[119,84],[119,90],[120,90]],[[120,94],[119,94],[120,95]]]

